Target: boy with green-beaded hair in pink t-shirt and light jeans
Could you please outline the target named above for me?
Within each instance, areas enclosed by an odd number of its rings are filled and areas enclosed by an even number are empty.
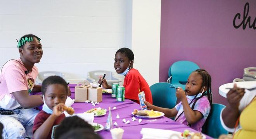
[[[10,139],[32,137],[32,126],[38,110],[33,107],[43,103],[40,95],[30,96],[30,92],[41,92],[35,85],[38,69],[34,66],[43,55],[40,38],[28,34],[18,42],[19,59],[11,59],[2,67],[0,77],[0,108],[9,110],[2,113],[3,137]],[[3,111],[2,111],[3,112]]]

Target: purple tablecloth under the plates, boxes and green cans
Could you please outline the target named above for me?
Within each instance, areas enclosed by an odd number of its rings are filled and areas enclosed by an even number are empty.
[[[69,85],[71,90],[71,98],[74,99],[74,86],[75,85]],[[91,103],[74,103],[72,107],[75,110],[75,113],[83,113],[87,110],[90,110],[91,108],[101,107],[107,109],[107,114],[102,117],[94,117],[95,123],[102,124],[105,126],[108,116],[108,107],[111,107],[112,112],[112,121],[118,123],[118,127],[121,127],[125,130],[123,134],[123,139],[141,139],[142,134],[140,134],[140,131],[142,128],[157,128],[157,129],[168,129],[173,131],[179,131],[183,132],[185,129],[189,129],[192,132],[197,132],[194,129],[191,129],[187,127],[186,125],[180,124],[178,122],[175,122],[167,117],[160,117],[157,119],[142,119],[142,122],[138,122],[138,117],[136,117],[136,121],[132,121],[131,118],[133,115],[131,115],[131,112],[133,112],[134,109],[140,109],[140,105],[138,105],[135,102],[132,102],[131,100],[125,99],[125,102],[117,102],[116,99],[111,98],[111,94],[103,94],[102,102],[99,103],[99,105],[93,106]],[[113,107],[116,107],[115,110],[113,110]],[[120,118],[117,119],[116,115],[119,114]],[[130,124],[125,124],[122,120],[130,120]],[[111,139],[111,133],[109,131],[99,131],[98,134],[102,136],[104,139]],[[207,138],[211,139],[211,137],[206,136]]]

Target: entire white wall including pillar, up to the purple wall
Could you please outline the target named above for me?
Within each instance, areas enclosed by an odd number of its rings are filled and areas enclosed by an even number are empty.
[[[85,79],[88,71],[114,71],[114,54],[128,47],[152,85],[159,78],[160,13],[161,0],[0,0],[0,68],[19,57],[16,39],[33,33],[43,45],[39,71]]]

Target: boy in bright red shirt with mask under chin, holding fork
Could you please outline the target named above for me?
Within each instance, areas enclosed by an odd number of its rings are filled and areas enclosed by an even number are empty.
[[[138,93],[145,92],[146,101],[152,104],[152,94],[147,81],[140,75],[139,71],[133,68],[134,54],[129,48],[121,48],[115,54],[114,68],[116,73],[125,76],[125,98],[139,103]],[[103,82],[102,87],[111,89],[106,79],[100,78],[99,83]]]

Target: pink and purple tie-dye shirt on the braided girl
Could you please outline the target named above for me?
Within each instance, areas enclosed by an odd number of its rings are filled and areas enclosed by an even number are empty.
[[[189,103],[192,101],[189,98],[187,98],[187,100]],[[193,102],[190,104],[190,108],[192,107],[194,101],[195,100],[193,100]],[[176,118],[177,118],[178,115],[180,115],[183,112],[182,102],[178,103],[175,106],[175,108],[178,111],[178,114],[176,115]],[[197,102],[195,102],[194,110],[199,111],[203,115],[203,117],[199,121],[197,121],[191,125],[192,129],[195,129],[199,132],[202,131],[202,126],[204,125],[204,123],[209,115],[210,109],[211,109],[211,106],[210,106],[209,100],[206,96],[200,98],[199,100],[197,100]],[[188,124],[184,112],[182,115],[180,115],[180,117],[176,121],[179,123],[182,123],[184,125]]]

